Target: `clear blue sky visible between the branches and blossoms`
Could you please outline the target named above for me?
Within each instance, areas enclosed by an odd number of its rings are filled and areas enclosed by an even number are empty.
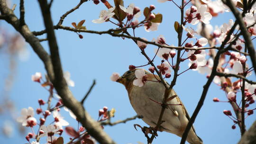
[[[54,0],[51,9],[54,24],[57,24],[61,15],[76,6],[79,1],[80,0]],[[19,15],[19,0],[13,0],[13,3],[18,5],[15,14]],[[113,5],[111,0],[110,3]],[[136,36],[146,37],[148,40],[151,40],[159,35],[164,35],[168,44],[177,45],[177,34],[173,26],[174,21],[180,21],[180,12],[172,2],[158,3],[157,0],[124,0],[125,7],[127,7],[129,3],[135,3],[141,10],[153,4],[156,7],[154,10],[155,13],[159,12],[163,14],[163,23],[158,27],[158,31],[148,33],[141,27],[136,31]],[[102,3],[95,5],[92,1],[85,2],[80,9],[71,13],[64,19],[63,25],[72,27],[72,22],[78,23],[80,20],[85,19],[84,25],[89,30],[101,31],[116,28],[110,22],[102,24],[94,24],[91,22],[92,19],[98,18],[102,9],[106,9]],[[30,30],[39,31],[44,29],[37,0],[25,0],[25,10],[25,20]],[[224,22],[228,23],[230,18],[233,18],[231,13],[224,13],[219,14],[218,18],[212,18],[210,22],[213,26],[220,26]],[[142,17],[140,20],[142,20]],[[7,27],[8,31],[14,31],[6,22],[0,21],[0,24]],[[71,79],[75,82],[75,87],[70,88],[75,98],[78,100],[82,99],[83,95],[91,86],[92,80],[96,79],[97,81],[96,86],[84,103],[84,107],[91,116],[97,119],[98,110],[104,106],[116,109],[116,114],[115,117],[112,118],[112,121],[135,116],[136,113],[129,103],[125,87],[117,82],[110,81],[110,75],[112,72],[123,74],[128,70],[128,65],[130,64],[137,66],[147,63],[145,57],[140,54],[137,45],[130,39],[123,40],[122,38],[111,37],[109,35],[84,33],[82,34],[83,39],[80,39],[74,32],[60,29],[55,30],[55,34],[59,45],[63,69],[71,73]],[[45,38],[46,35],[39,37]],[[45,47],[46,51],[48,51],[47,42],[42,42],[42,45]],[[147,46],[146,53],[152,57],[155,48],[155,46]],[[27,45],[27,50],[30,53],[30,57],[25,62],[18,61],[14,85],[9,92],[10,99],[17,108],[16,116],[19,115],[22,108],[31,106],[36,109],[38,108],[38,99],[44,99],[46,101],[48,98],[47,91],[36,82],[31,81],[31,75],[35,72],[46,73],[44,65],[29,45]],[[8,69],[8,64],[6,64],[7,57],[8,56],[4,54],[1,54],[0,57],[0,64],[6,69]],[[158,58],[156,63],[159,61],[160,59]],[[187,69],[187,64],[188,62],[182,63],[181,69]],[[147,68],[148,67],[145,67],[145,69]],[[8,72],[7,70],[0,72],[2,81],[6,78]],[[249,78],[256,80],[254,74]],[[182,99],[190,115],[192,115],[200,99],[202,86],[205,84],[206,80],[206,75],[201,75],[194,71],[185,72],[178,77],[174,90]],[[4,82],[0,83],[0,88],[3,87],[3,84]],[[224,109],[232,108],[228,103],[212,102],[214,97],[226,100],[225,93],[220,90],[219,86],[212,83],[204,105],[194,123],[197,135],[203,139],[205,144],[235,144],[240,139],[240,130],[239,128],[232,130],[231,126],[233,122],[222,113]],[[62,110],[62,115],[69,121],[71,126],[77,126],[76,121],[69,117],[69,114],[64,110]],[[0,115],[1,126],[5,120],[10,118],[8,113]],[[251,126],[255,119],[255,115],[246,119],[247,128]],[[137,119],[117,126],[105,126],[104,130],[118,144],[137,144],[138,141],[146,144],[144,134],[141,131],[136,131],[133,127],[134,124],[147,126],[142,120]],[[27,128],[27,132],[30,132],[29,128]],[[19,134],[18,131],[15,130],[11,138],[0,135],[0,141],[4,144],[25,144],[27,143],[25,140],[26,134]],[[176,135],[166,132],[158,134],[159,136],[154,140],[155,144],[179,144],[181,139]],[[65,142],[68,142],[68,137],[66,135],[64,135],[64,137]]]

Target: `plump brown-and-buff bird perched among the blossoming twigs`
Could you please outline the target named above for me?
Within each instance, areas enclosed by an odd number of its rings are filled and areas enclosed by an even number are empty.
[[[145,72],[146,81],[143,82],[143,86],[134,85],[134,82],[138,81],[135,74],[137,70]],[[128,91],[130,103],[137,115],[143,116],[142,120],[151,127],[155,127],[157,124],[162,108],[157,102],[161,103],[163,101],[165,93],[164,84],[158,82],[156,78],[160,80],[158,75],[154,76],[152,72],[144,69],[133,69],[125,72],[117,80]],[[166,84],[169,85],[167,82]],[[176,92],[171,90],[169,97],[175,95],[177,95]],[[168,101],[167,104],[168,106],[162,118],[164,122],[160,125],[158,131],[165,131],[182,137],[190,116],[178,96]],[[193,126],[188,133],[186,141],[190,144],[203,144],[202,139],[196,135]]]

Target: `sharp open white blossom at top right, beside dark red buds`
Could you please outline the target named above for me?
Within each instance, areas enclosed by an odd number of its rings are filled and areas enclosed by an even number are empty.
[[[197,18],[194,18],[191,22],[192,25],[196,25],[199,21],[202,21],[205,24],[209,24],[209,20],[212,18],[210,12],[207,12],[207,5],[201,5],[197,10]]]

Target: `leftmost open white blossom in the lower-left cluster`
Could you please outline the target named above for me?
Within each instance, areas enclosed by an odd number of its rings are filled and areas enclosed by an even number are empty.
[[[34,118],[33,116],[34,116],[34,109],[32,107],[22,108],[21,109],[21,117],[18,117],[17,121],[19,123],[22,123],[22,126],[27,126],[28,122],[30,123],[31,120],[33,120],[35,123],[37,123],[36,118]],[[34,124],[34,123],[32,123],[32,124]]]

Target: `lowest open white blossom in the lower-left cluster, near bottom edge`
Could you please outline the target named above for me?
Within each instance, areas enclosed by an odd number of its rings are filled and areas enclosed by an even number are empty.
[[[54,125],[49,125],[49,126],[41,126],[40,128],[41,130],[43,130],[45,133],[44,134],[41,134],[39,135],[38,137],[43,137],[43,136],[53,136],[55,134],[60,134],[60,132],[58,132],[60,130],[60,127],[59,126],[54,126]]]

